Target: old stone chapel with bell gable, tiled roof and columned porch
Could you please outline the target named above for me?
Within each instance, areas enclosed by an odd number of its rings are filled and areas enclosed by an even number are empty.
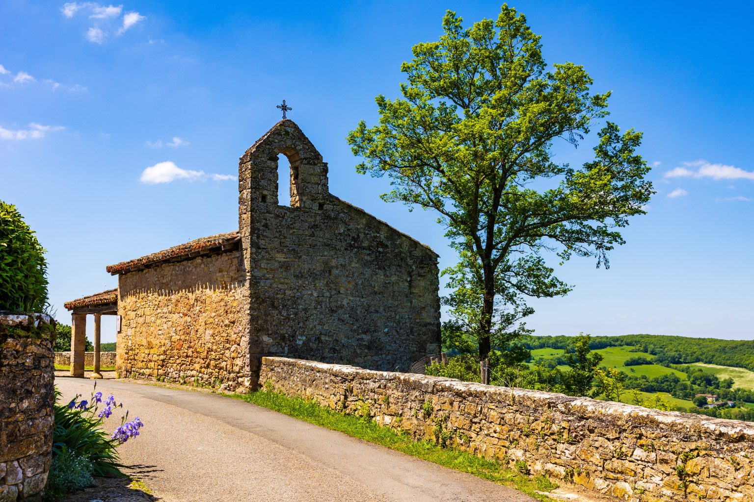
[[[280,154],[290,201],[277,196]],[[267,355],[405,371],[440,351],[437,254],[329,193],[296,123],[244,153],[238,190],[238,230],[107,266],[117,290],[66,303],[72,375],[87,314],[97,342],[99,316],[118,315],[118,376],[228,390],[254,388]]]

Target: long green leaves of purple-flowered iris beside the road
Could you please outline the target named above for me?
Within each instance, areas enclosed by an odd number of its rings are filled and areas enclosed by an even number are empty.
[[[81,409],[69,409],[68,403],[58,403],[60,392],[55,390],[55,430],[53,455],[64,450],[92,464],[95,476],[121,476],[118,468],[118,441],[112,440],[102,428],[100,421],[84,414]]]

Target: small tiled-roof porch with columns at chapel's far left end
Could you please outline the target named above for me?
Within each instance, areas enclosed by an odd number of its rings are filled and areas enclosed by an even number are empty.
[[[88,297],[64,303],[71,311],[71,376],[84,378],[84,354],[86,352],[87,315],[94,316],[94,371],[92,379],[101,379],[100,338],[103,315],[118,315],[118,289],[103,291]]]

